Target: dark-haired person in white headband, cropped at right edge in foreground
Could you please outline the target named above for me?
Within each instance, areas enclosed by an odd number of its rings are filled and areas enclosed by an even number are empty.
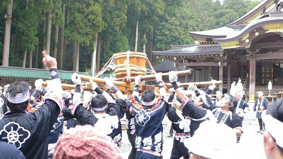
[[[264,151],[268,159],[283,159],[283,98],[275,101],[262,113],[265,130]]]

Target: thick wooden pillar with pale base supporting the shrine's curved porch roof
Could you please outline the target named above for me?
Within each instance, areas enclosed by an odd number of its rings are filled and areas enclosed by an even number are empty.
[[[255,55],[251,54],[250,57],[250,90],[249,90],[249,101],[248,102],[255,102],[254,98],[254,91],[255,91],[255,68],[256,68],[256,61]]]

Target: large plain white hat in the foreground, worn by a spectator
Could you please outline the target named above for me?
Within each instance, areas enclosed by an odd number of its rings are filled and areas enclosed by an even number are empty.
[[[192,153],[210,159],[236,158],[233,153],[236,132],[225,124],[202,122],[194,136],[184,141],[184,145]]]

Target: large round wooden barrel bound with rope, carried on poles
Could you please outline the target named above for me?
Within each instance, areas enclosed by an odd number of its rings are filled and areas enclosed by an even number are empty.
[[[129,55],[128,55],[129,54]],[[147,54],[143,52],[119,52],[114,55],[115,65],[124,64],[127,60],[127,56],[129,56],[129,63],[130,63],[130,76],[135,77],[137,75],[146,75],[146,59]],[[132,65],[136,66],[132,66]],[[137,67],[140,66],[140,67]],[[115,69],[114,73],[116,78],[124,78],[127,76],[126,66],[121,66]]]

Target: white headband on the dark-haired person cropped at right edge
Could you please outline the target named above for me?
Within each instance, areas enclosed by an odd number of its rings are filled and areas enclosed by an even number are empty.
[[[267,115],[266,111],[262,113],[262,120],[265,123],[265,130],[275,138],[276,144],[283,148],[283,123],[270,114]]]

